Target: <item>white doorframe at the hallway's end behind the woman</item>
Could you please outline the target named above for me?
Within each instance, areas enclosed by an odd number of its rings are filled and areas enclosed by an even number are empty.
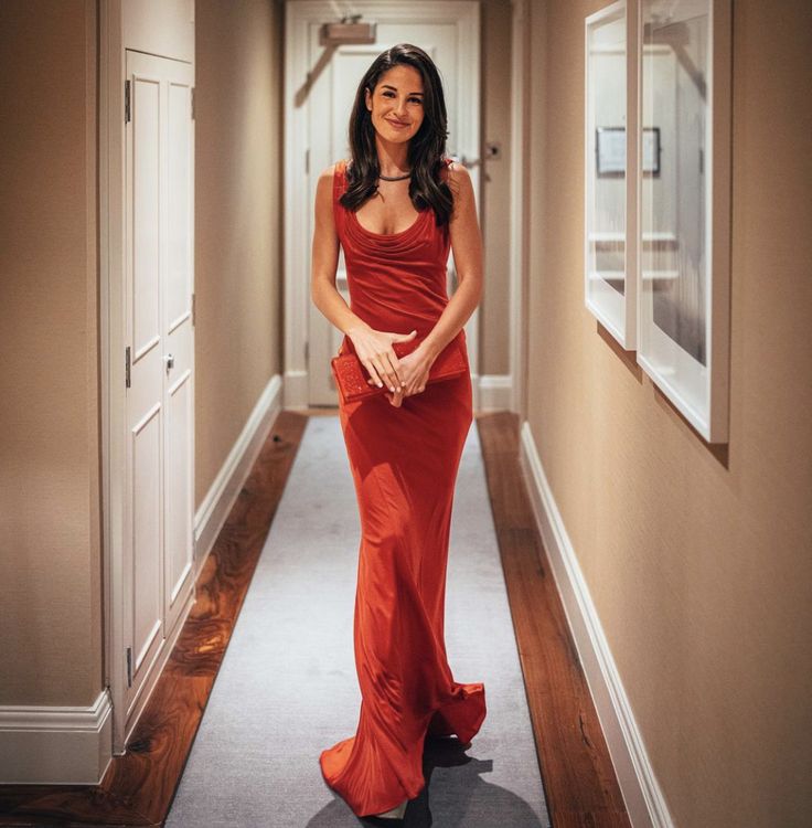
[[[472,146],[460,147],[468,158],[477,159],[470,169],[477,205],[482,216],[480,159],[482,144],[482,123],[480,117],[481,98],[481,30],[480,8],[478,0],[438,0],[419,2],[420,14],[427,22],[461,21],[468,25],[469,39],[480,43],[476,65],[460,73],[463,83],[469,84],[466,93],[471,107],[466,110],[467,123],[460,124],[460,135],[468,136]],[[357,6],[357,3],[355,4]],[[353,7],[355,8],[355,7]],[[285,4],[285,392],[284,407],[306,408],[309,405],[309,360],[308,340],[310,307],[310,245],[311,238],[304,232],[312,227],[312,204],[308,203],[309,187],[302,187],[311,174],[318,170],[308,169],[309,134],[306,108],[296,106],[300,86],[310,75],[306,44],[309,43],[308,26],[313,23],[335,19],[335,3],[330,0],[287,0]],[[371,20],[385,19],[387,22],[414,21],[414,6],[404,8],[391,6],[380,0],[364,2],[363,12]],[[316,71],[319,71],[317,66]],[[476,136],[473,138],[472,136]],[[309,216],[307,222],[297,221],[297,216]],[[301,274],[306,274],[302,278]],[[474,410],[479,403],[479,307],[466,322],[466,341],[471,362]]]

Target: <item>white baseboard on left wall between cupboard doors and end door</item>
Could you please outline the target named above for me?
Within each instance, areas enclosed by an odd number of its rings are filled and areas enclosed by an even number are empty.
[[[195,577],[214,545],[274,421],[281,411],[281,376],[275,374],[260,394],[242,434],[232,446],[228,457],[194,516]]]

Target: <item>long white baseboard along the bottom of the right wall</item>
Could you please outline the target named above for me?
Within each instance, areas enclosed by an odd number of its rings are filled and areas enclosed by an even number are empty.
[[[674,822],[649,762],[623,682],[526,421],[521,431],[520,461],[629,819],[634,828],[673,828]]]

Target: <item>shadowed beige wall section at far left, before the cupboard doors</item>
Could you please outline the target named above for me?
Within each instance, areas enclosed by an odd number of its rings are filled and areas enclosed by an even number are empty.
[[[103,684],[94,0],[0,3],[0,704],[89,704]]]

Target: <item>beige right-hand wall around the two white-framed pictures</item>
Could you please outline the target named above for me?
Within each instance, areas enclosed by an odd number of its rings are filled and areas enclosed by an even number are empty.
[[[812,813],[810,7],[734,4],[725,456],[584,307],[584,19],[602,4],[551,0],[545,26],[533,3],[528,420],[675,824],[800,827]]]

